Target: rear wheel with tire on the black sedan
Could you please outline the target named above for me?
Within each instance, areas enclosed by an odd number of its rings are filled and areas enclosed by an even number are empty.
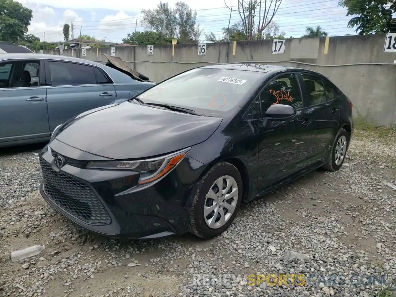
[[[349,134],[345,129],[341,129],[335,137],[335,142],[331,148],[331,155],[329,162],[323,166],[329,171],[336,171],[343,166],[346,157],[346,150],[348,148]]]

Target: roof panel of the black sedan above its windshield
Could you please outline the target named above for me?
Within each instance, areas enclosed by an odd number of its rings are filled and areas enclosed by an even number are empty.
[[[302,69],[297,67],[287,67],[287,66],[280,66],[280,65],[267,65],[262,63],[237,63],[237,64],[217,64],[217,65],[210,65],[210,66],[203,66],[200,68],[207,68],[207,69],[230,69],[230,70],[245,70],[245,71],[254,71],[254,72],[261,72],[265,74],[274,74],[278,72],[283,72],[285,70],[289,71],[307,71],[310,73],[317,74],[317,72],[309,69]]]

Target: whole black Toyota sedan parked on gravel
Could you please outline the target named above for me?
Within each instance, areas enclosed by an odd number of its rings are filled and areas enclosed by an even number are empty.
[[[351,101],[317,72],[200,67],[58,126],[40,192],[100,234],[213,238],[242,202],[341,168],[352,133]]]

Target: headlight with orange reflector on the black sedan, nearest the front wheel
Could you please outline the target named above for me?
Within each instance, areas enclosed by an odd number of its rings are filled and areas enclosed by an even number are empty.
[[[187,148],[167,156],[147,160],[109,162],[94,161],[89,162],[87,168],[137,171],[140,173],[138,185],[143,185],[156,181],[167,175],[181,162],[181,160],[183,160],[189,150],[190,148]]]

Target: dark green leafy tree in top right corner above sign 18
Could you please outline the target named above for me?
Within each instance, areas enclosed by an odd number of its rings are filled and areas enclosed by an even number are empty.
[[[354,16],[348,27],[356,27],[358,34],[396,32],[395,0],[340,0],[338,6],[348,9],[347,16]]]

